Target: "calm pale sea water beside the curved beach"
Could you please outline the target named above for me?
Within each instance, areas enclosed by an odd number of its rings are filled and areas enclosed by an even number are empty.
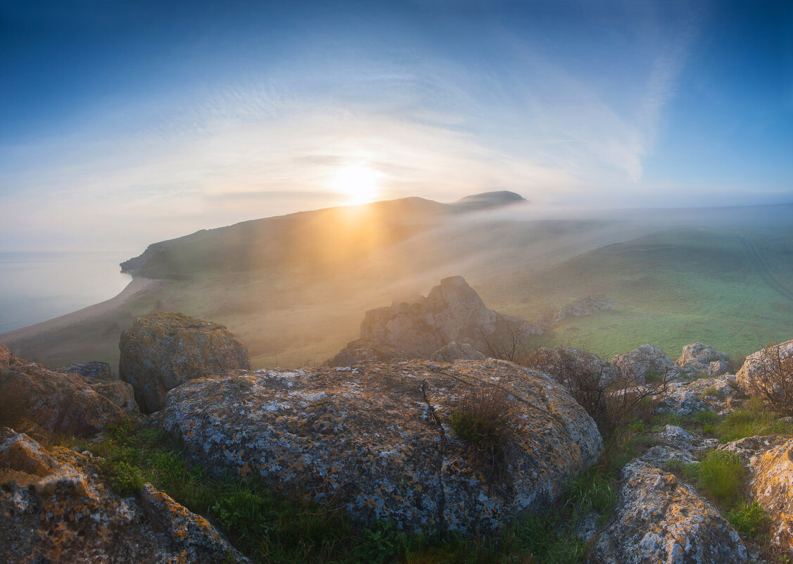
[[[128,252],[0,252],[0,333],[115,296],[132,279]]]

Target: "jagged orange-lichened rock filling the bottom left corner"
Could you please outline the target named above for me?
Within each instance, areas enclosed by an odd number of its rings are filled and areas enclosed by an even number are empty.
[[[201,517],[151,485],[141,507],[99,478],[94,458],[46,451],[0,428],[0,562],[220,564],[247,559]]]

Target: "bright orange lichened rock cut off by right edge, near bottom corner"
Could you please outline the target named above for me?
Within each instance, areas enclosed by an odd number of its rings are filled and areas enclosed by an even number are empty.
[[[752,476],[753,501],[771,520],[771,543],[793,556],[793,439],[754,436],[720,448],[744,458]]]

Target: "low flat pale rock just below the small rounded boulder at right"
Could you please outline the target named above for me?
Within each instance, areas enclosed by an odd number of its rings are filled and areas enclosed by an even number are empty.
[[[672,382],[655,412],[694,415],[699,411],[722,411],[726,401],[736,392],[734,374],[692,382]]]

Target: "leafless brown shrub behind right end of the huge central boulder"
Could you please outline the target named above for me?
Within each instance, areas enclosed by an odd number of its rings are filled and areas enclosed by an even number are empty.
[[[667,392],[668,371],[622,374],[597,355],[565,348],[538,349],[526,355],[527,367],[548,374],[569,389],[607,437],[634,420],[648,420]]]

